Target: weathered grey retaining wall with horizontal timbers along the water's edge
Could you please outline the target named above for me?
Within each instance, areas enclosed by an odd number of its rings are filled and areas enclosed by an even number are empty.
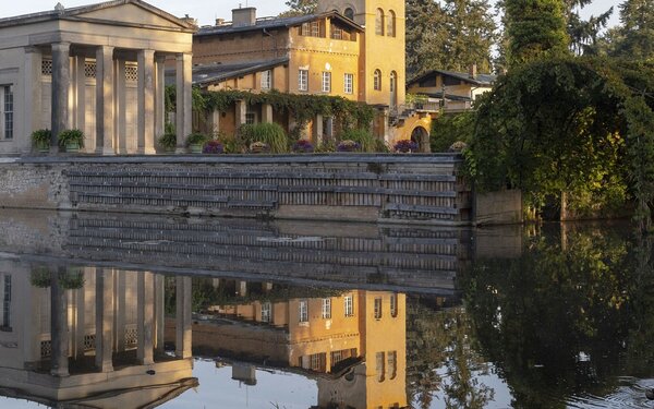
[[[457,155],[22,158],[0,206],[465,225]]]

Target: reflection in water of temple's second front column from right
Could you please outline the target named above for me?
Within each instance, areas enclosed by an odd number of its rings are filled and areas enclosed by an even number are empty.
[[[138,325],[138,344],[136,345],[136,359],[142,365],[155,362],[153,352],[154,344],[154,320],[155,320],[155,281],[152,273],[138,272],[136,276],[136,305],[138,313],[136,322]]]

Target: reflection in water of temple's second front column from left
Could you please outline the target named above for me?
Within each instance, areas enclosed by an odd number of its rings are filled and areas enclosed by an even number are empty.
[[[113,270],[96,273],[96,366],[100,372],[113,371]]]

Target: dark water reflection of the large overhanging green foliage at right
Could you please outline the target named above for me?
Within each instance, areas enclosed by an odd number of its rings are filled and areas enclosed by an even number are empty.
[[[637,256],[651,246],[608,229],[545,237],[526,239],[520,260],[477,261],[463,278],[482,351],[518,408],[565,407],[578,392],[605,395],[616,387],[623,346],[627,362],[639,354],[633,364],[642,363],[654,339],[638,322],[652,328],[652,267]]]

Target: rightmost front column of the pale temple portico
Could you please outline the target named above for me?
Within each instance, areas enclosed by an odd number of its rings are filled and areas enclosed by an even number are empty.
[[[186,135],[193,130],[191,96],[191,55],[177,55],[177,152],[184,153]]]

